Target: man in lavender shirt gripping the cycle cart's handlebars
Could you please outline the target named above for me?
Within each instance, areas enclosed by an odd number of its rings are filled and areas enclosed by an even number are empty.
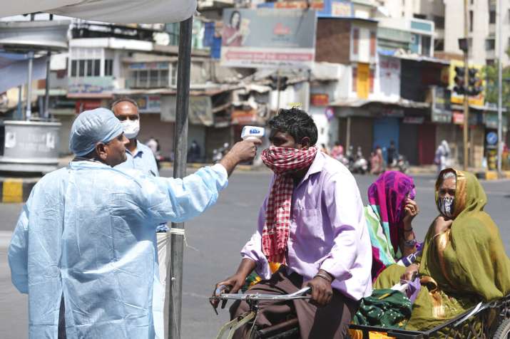
[[[312,150],[315,154],[317,127],[307,113],[297,109],[280,110],[269,125],[271,146],[265,150],[266,155],[288,151],[301,159],[300,152],[304,155]],[[294,150],[282,150],[282,147]],[[267,160],[265,164],[268,165]],[[296,315],[302,339],[345,338],[359,300],[372,293],[372,249],[355,178],[344,165],[320,151],[304,168],[282,173],[271,165],[268,167],[275,172],[271,187],[278,175],[292,178],[289,234],[282,252],[285,264],[272,273],[265,255],[267,241],[262,239],[268,233],[268,194],[260,209],[258,229],[241,251],[243,260],[238,271],[217,287],[225,285],[230,293],[236,293],[254,269],[262,281],[250,288],[250,293],[285,294],[310,286],[311,302],[261,304],[257,325],[275,325],[289,315]],[[234,303],[230,314],[235,318],[248,309],[245,302]],[[240,328],[234,338],[248,338],[248,330],[248,326]]]

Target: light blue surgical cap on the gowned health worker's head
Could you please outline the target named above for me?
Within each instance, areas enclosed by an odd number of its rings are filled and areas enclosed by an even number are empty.
[[[108,142],[123,132],[121,122],[111,110],[96,108],[78,115],[71,127],[69,149],[75,155],[88,155],[98,142]]]

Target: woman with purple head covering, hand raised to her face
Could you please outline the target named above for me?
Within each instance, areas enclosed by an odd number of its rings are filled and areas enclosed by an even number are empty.
[[[412,220],[419,213],[412,177],[401,172],[381,174],[368,189],[364,208],[372,243],[372,279],[391,264],[408,266],[419,249]]]

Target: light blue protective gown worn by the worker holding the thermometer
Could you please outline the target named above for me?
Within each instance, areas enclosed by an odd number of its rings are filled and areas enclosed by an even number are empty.
[[[57,338],[61,296],[67,338],[163,333],[155,225],[197,216],[227,184],[221,165],[184,179],[88,161],[46,174],[9,246],[12,281],[29,293],[29,338]]]

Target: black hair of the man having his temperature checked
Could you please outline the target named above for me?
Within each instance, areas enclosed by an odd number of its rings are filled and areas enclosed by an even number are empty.
[[[272,130],[288,133],[295,142],[301,142],[303,137],[310,138],[310,146],[314,146],[317,142],[317,126],[304,110],[281,109],[278,115],[269,120],[268,125]]]

